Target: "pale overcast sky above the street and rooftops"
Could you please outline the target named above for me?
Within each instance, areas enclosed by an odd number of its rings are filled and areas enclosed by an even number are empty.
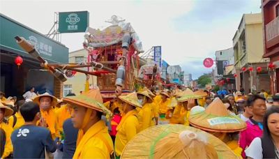
[[[203,59],[216,50],[232,47],[232,38],[243,13],[260,13],[261,0],[195,1],[3,1],[0,12],[46,34],[54,23],[54,12],[88,10],[90,27],[104,28],[112,15],[130,22],[144,50],[161,45],[163,59],[180,65],[197,78],[209,73]],[[62,41],[70,52],[82,49],[84,33],[65,33]]]

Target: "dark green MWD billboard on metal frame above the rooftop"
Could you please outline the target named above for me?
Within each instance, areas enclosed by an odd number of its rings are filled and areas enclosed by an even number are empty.
[[[85,32],[89,27],[89,12],[61,12],[59,13],[60,33]]]

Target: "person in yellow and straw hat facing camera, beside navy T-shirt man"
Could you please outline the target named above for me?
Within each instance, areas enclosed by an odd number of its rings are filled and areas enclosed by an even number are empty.
[[[57,123],[56,114],[54,112],[54,105],[57,103],[57,98],[49,93],[43,93],[40,96],[36,96],[33,99],[35,103],[40,105],[41,120],[38,122],[38,126],[44,126],[52,134],[52,139],[60,137],[59,126]]]

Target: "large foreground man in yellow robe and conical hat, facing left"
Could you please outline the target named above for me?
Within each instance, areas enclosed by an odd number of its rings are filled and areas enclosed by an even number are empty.
[[[73,158],[111,158],[114,153],[112,138],[101,117],[106,114],[110,118],[112,112],[103,105],[100,90],[91,89],[63,100],[73,107],[73,126],[79,129]]]

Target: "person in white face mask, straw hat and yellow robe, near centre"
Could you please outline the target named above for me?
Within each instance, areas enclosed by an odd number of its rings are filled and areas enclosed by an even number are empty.
[[[137,98],[139,98],[139,103],[142,105],[142,109],[138,113],[139,128],[142,131],[152,126],[153,100],[147,91],[137,92]]]

